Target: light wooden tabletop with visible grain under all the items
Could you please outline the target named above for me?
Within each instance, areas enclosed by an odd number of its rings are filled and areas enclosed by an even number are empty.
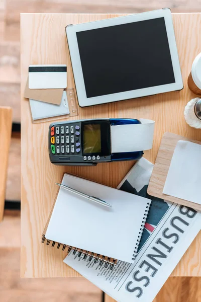
[[[133,166],[133,162],[99,164],[97,167],[58,167],[50,163],[47,135],[50,122],[33,124],[29,102],[23,92],[29,64],[67,64],[68,88],[74,87],[67,49],[65,26],[119,15],[99,14],[22,14],[21,15],[21,125],[22,125],[22,209],[21,276],[78,276],[63,263],[66,255],[41,244],[41,234],[48,218],[58,182],[63,172],[116,187]],[[201,131],[190,128],[184,120],[185,104],[194,97],[187,87],[187,77],[194,57],[201,51],[201,14],[173,14],[184,89],[105,105],[78,108],[81,118],[127,117],[155,120],[152,150],[145,158],[154,163],[161,137],[170,131],[201,140]],[[172,276],[201,275],[201,233],[187,250]]]

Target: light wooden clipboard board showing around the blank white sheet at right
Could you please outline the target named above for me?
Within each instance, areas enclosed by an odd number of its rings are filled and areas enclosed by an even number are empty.
[[[181,136],[181,135],[178,135],[178,134],[174,134],[174,133],[171,133],[171,132],[165,132],[162,136],[162,139],[161,139],[161,143],[162,143],[162,140],[164,138],[178,138],[176,140],[176,143],[178,140],[185,140],[185,141],[191,141],[191,142],[194,142],[194,143],[198,143],[198,144],[201,144],[201,141],[198,141],[198,140],[194,140],[194,139],[189,139],[185,136]],[[159,149],[158,149],[158,154],[159,152],[161,151],[162,147],[161,147],[161,143],[160,143],[160,146],[159,146]],[[176,146],[176,144],[175,144]],[[175,148],[174,146],[174,148]],[[173,150],[174,150],[173,148]],[[164,200],[167,200],[167,201],[171,201],[171,202],[174,202],[174,203],[178,203],[178,204],[181,204],[181,205],[184,205],[184,206],[188,206],[188,207],[191,207],[193,209],[196,209],[196,210],[201,210],[201,205],[200,204],[197,204],[197,203],[194,203],[194,202],[191,202],[191,201],[187,201],[187,200],[184,200],[184,199],[180,199],[180,198],[177,198],[177,197],[174,197],[174,196],[170,196],[170,195],[166,195],[166,194],[163,194],[162,192],[160,191],[156,191],[153,192],[153,186],[155,185],[155,174],[157,174],[157,172],[161,171],[161,163],[158,163],[158,154],[157,154],[157,157],[156,157],[156,161],[155,161],[155,164],[154,164],[154,168],[153,168],[153,171],[152,171],[152,174],[151,174],[151,178],[150,178],[150,181],[149,181],[149,185],[148,185],[148,188],[147,188],[147,193],[151,196],[154,196],[154,197],[158,197],[158,198],[161,198],[161,199],[164,199]],[[172,153],[172,156],[173,156],[173,153]],[[172,160],[172,156],[170,159],[167,159],[167,161],[170,161],[171,163],[171,160]],[[165,164],[163,165],[163,167],[166,166]],[[168,166],[168,170],[169,170],[169,166]],[[168,173],[168,170],[167,170],[167,173]],[[167,174],[165,176],[165,180],[166,180],[166,177],[167,177]],[[164,184],[163,184],[163,187],[164,187]]]

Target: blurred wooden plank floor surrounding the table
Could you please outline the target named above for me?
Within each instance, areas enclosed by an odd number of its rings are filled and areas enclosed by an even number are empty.
[[[201,1],[0,0],[0,106],[13,108],[5,213],[0,223],[1,302],[109,302],[84,278],[20,279],[20,13],[140,13],[164,7],[172,13],[201,12]],[[199,278],[169,278],[154,302],[201,301],[200,285]]]

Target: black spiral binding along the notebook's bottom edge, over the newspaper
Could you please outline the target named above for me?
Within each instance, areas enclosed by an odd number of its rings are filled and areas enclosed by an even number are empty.
[[[43,235],[42,236],[42,243],[45,243],[45,240],[46,240],[46,237],[45,237],[45,235]],[[51,242],[52,242],[52,248],[55,246],[55,244],[57,245],[57,249],[59,249],[61,246],[63,246],[62,251],[64,251],[65,248],[68,248],[67,254],[69,254],[70,251],[73,250],[73,255],[75,255],[78,252],[78,255],[77,255],[78,258],[80,258],[82,254],[84,254],[83,259],[86,259],[88,257],[89,262],[91,262],[91,260],[94,259],[94,263],[97,263],[99,261],[100,266],[103,266],[103,264],[104,264],[105,268],[109,267],[111,270],[114,268],[115,264],[117,263],[116,259],[111,259],[109,257],[102,256],[102,255],[99,255],[99,254],[90,253],[89,251],[83,251],[83,250],[80,250],[78,248],[67,246],[65,244],[62,245],[60,243],[57,243],[55,241],[51,241],[49,239],[47,239],[46,245],[49,245]],[[96,256],[94,256],[94,255],[96,255]]]

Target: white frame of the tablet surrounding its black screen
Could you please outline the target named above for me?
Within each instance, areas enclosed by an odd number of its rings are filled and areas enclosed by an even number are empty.
[[[161,17],[164,17],[165,20],[175,83],[87,98],[85,86],[84,86],[84,78],[83,78],[83,72],[81,67],[81,60],[79,55],[76,32],[103,28],[108,26],[115,26],[119,24],[138,22],[143,20],[156,19]],[[183,89],[183,82],[181,77],[181,70],[180,70],[180,64],[179,64],[179,58],[178,58],[178,52],[176,47],[176,40],[174,35],[174,28],[173,28],[170,9],[161,9],[161,10],[147,12],[147,13],[127,15],[123,17],[104,19],[95,22],[68,25],[66,26],[66,37],[68,41],[77,98],[80,107],[116,102],[126,99],[139,98],[139,97],[154,95],[158,93]]]

